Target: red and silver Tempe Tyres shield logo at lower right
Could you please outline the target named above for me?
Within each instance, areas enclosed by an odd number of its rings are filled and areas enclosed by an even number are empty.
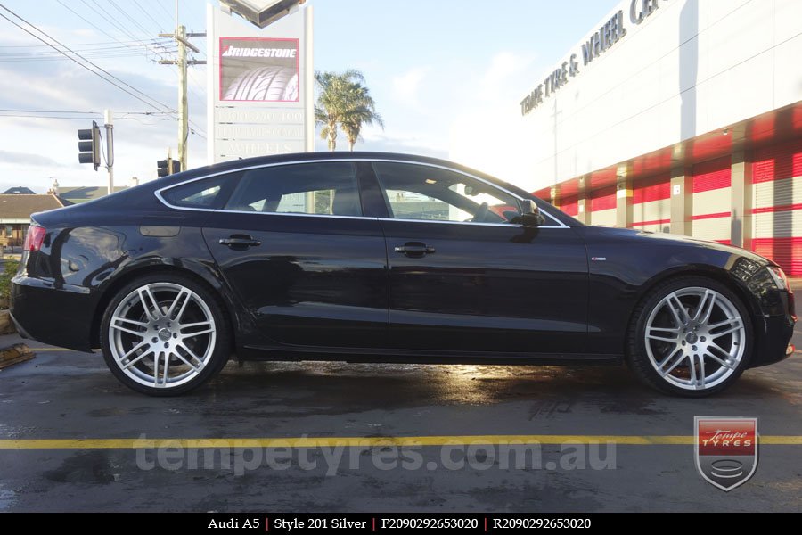
[[[757,418],[694,416],[696,468],[706,481],[730,491],[757,469]]]

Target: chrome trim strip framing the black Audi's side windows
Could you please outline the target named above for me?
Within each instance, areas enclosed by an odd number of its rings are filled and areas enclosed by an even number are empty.
[[[209,173],[208,175],[202,175],[201,177],[189,178],[189,179],[184,180],[183,182],[179,182],[177,184],[166,185],[164,187],[161,187],[158,190],[156,190],[155,192],[153,192],[153,194],[156,195],[156,198],[159,199],[159,201],[162,204],[164,204],[165,206],[167,206],[168,208],[171,208],[173,210],[205,211],[205,212],[233,213],[233,214],[250,214],[250,215],[262,215],[262,216],[296,216],[296,217],[302,217],[302,218],[373,219],[373,220],[381,220],[381,221],[408,221],[408,222],[417,222],[417,223],[446,223],[448,225],[510,226],[509,223],[474,223],[472,221],[440,221],[438,219],[368,218],[367,216],[337,216],[337,215],[333,215],[333,214],[301,214],[301,213],[295,213],[295,212],[257,212],[257,211],[250,211],[250,210],[226,210],[226,209],[216,210],[216,209],[210,209],[210,208],[191,208],[191,207],[187,207],[187,206],[176,206],[174,204],[170,204],[164,198],[164,196],[161,194],[161,192],[166,191],[168,189],[172,189],[174,187],[178,187],[178,186],[185,185],[185,184],[192,184],[192,182],[198,182],[199,180],[206,180],[207,178],[219,177],[221,175],[228,175],[228,174],[231,174],[231,173],[240,173],[242,171],[250,171],[252,169],[266,169],[266,168],[280,167],[280,166],[285,166],[285,165],[298,165],[298,164],[304,164],[304,163],[327,163],[327,162],[331,162],[331,161],[351,161],[351,162],[356,162],[356,161],[367,161],[367,162],[381,161],[381,162],[385,162],[385,163],[406,163],[406,164],[410,164],[410,165],[420,165],[420,166],[430,167],[430,168],[434,168],[434,169],[444,169],[446,171],[451,171],[452,173],[457,173],[457,174],[462,175],[464,177],[470,177],[470,178],[473,178],[474,180],[479,180],[479,182],[481,182],[483,184],[486,184],[486,185],[489,185],[490,187],[494,187],[497,190],[503,191],[504,193],[507,193],[508,195],[511,195],[512,197],[514,197],[515,199],[518,199],[519,201],[526,201],[526,199],[524,199],[520,195],[517,195],[516,193],[512,193],[511,191],[503,188],[500,185],[495,185],[492,182],[490,182],[489,180],[486,180],[486,179],[484,179],[482,177],[477,177],[475,175],[471,175],[471,173],[466,173],[466,172],[464,172],[464,171],[462,171],[460,169],[454,169],[454,168],[447,167],[445,165],[438,165],[436,163],[429,163],[429,162],[423,162],[423,161],[393,160],[393,159],[390,159],[390,158],[321,158],[321,159],[316,159],[316,160],[295,160],[295,161],[281,161],[281,162],[275,162],[275,163],[263,163],[263,164],[260,164],[260,165],[253,165],[253,166],[250,166],[250,167],[244,167],[244,168],[239,168],[239,169],[228,169],[228,170],[225,170],[225,171],[218,171],[217,173]],[[554,216],[552,216],[552,214],[550,214],[548,212],[544,212],[543,210],[541,210],[541,211],[542,211],[542,213],[544,214],[545,217],[552,219],[552,221],[555,223],[555,225],[541,225],[541,226],[538,226],[537,228],[570,228],[568,225],[565,225],[559,219],[557,219]]]

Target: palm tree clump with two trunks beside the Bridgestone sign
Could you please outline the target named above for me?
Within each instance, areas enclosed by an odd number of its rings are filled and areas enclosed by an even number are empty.
[[[372,96],[363,85],[364,76],[358,70],[343,73],[316,71],[315,83],[319,90],[315,124],[323,127],[320,136],[327,141],[330,151],[337,148],[338,127],[348,137],[352,151],[364,124],[375,122],[384,128]]]

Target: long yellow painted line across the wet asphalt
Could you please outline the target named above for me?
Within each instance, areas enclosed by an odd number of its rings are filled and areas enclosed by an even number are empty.
[[[684,435],[462,435],[422,437],[291,437],[232,439],[11,439],[0,440],[0,449],[156,449],[156,448],[336,448],[381,446],[465,446],[510,444],[604,444],[671,446],[693,444]],[[761,436],[773,446],[802,445],[802,436]]]

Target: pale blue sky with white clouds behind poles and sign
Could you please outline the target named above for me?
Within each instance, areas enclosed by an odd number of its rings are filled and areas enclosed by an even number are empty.
[[[178,0],[188,31],[206,28],[203,0]],[[614,0],[307,0],[315,12],[315,70],[361,70],[385,128],[357,150],[411,152],[513,179],[532,140],[516,135],[520,100],[617,4]],[[175,0],[0,0],[0,6],[107,71],[112,86],[0,18],[0,192],[27,185],[105,185],[78,163],[78,128],[114,113],[115,185],[156,177],[176,152],[177,69],[159,39]],[[35,29],[0,7],[24,28]],[[192,42],[206,59],[206,40]],[[206,71],[190,68],[189,167],[206,161]],[[144,101],[144,102],[143,102]],[[22,117],[24,116],[24,117]],[[344,140],[342,140],[344,142]],[[341,143],[340,150],[347,150]],[[325,150],[318,139],[315,150]]]

